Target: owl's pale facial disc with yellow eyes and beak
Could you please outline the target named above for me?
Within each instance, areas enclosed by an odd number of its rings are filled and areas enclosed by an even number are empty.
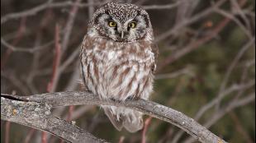
[[[94,23],[99,35],[116,42],[133,42],[143,39],[149,28],[149,18],[140,12],[134,15],[114,15],[111,12],[99,14]]]

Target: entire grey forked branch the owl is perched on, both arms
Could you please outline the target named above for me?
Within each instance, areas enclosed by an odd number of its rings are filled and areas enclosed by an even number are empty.
[[[59,136],[66,141],[78,142],[87,139],[91,140],[90,142],[101,142],[102,140],[96,139],[88,132],[79,129],[78,127],[74,127],[72,124],[69,124],[64,120],[51,116],[50,108],[70,105],[97,104],[133,108],[149,116],[159,118],[160,120],[172,123],[173,125],[182,128],[183,131],[187,131],[188,134],[198,141],[225,143],[225,141],[207,130],[206,127],[202,127],[199,123],[194,121],[192,118],[188,118],[183,113],[145,99],[114,102],[111,100],[99,99],[97,95],[92,95],[92,93],[88,91],[67,91],[31,96],[1,94],[1,103],[1,118],[3,120],[17,122],[26,126],[36,127],[40,130],[49,131],[55,136]],[[21,113],[13,113],[13,108],[17,108],[16,110],[19,112],[20,110],[18,109],[21,109]],[[39,108],[39,111],[37,111],[36,108]],[[21,122],[22,120],[23,122]]]

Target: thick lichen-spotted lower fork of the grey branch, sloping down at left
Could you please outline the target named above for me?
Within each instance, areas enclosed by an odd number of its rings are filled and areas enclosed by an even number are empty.
[[[88,131],[50,114],[50,105],[1,97],[1,119],[48,131],[68,142],[103,143]]]

